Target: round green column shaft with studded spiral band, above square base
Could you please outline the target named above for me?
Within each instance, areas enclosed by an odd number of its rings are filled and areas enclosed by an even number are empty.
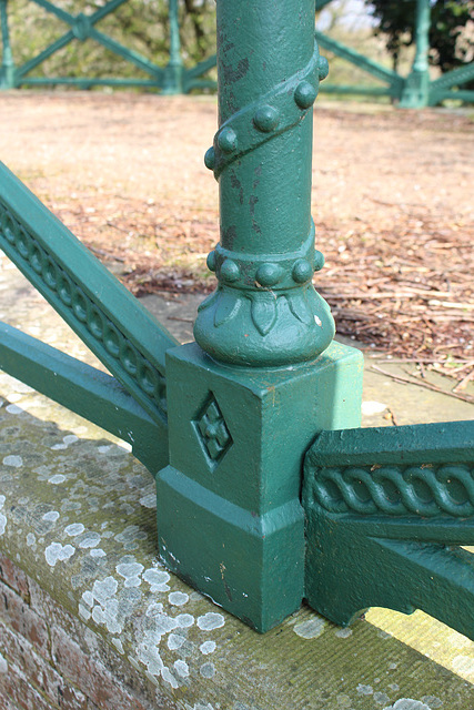
[[[312,285],[324,263],[311,220],[312,104],[327,72],[314,2],[221,2],[218,32],[220,130],[206,164],[220,183],[221,242],[208,258],[219,287],[194,335],[228,363],[305,361],[334,335]]]

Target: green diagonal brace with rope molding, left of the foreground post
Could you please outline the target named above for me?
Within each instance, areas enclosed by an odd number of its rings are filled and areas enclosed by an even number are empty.
[[[149,416],[165,422],[164,356],[177,341],[1,163],[0,247]]]

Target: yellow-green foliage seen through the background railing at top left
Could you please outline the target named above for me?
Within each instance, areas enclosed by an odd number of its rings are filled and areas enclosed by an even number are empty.
[[[90,16],[105,4],[105,0],[53,1],[73,16],[81,12]],[[180,0],[179,9],[183,60],[193,65],[215,52],[215,0]],[[39,54],[69,30],[69,26],[34,0],[10,1],[9,26],[17,65]],[[169,61],[168,0],[128,0],[95,28],[160,67]],[[148,78],[91,39],[72,41],[38,65],[31,75]]]

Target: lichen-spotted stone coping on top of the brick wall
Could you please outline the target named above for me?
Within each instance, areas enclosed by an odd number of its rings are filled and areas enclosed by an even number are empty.
[[[0,288],[4,320],[84,356],[16,273]],[[100,637],[157,707],[471,707],[474,643],[421,612],[372,609],[341,629],[303,606],[256,635],[161,566],[154,483],[127,445],[6,374],[0,399],[0,552]]]

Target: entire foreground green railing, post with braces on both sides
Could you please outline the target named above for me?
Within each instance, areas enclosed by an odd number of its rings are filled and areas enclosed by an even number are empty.
[[[108,367],[0,327],[0,366],[132,444],[161,559],[258,631],[422,608],[474,640],[474,422],[361,429],[362,354],[313,286],[313,0],[218,0],[218,286],[177,346],[4,166],[0,246]],[[467,612],[466,612],[467,610]]]

